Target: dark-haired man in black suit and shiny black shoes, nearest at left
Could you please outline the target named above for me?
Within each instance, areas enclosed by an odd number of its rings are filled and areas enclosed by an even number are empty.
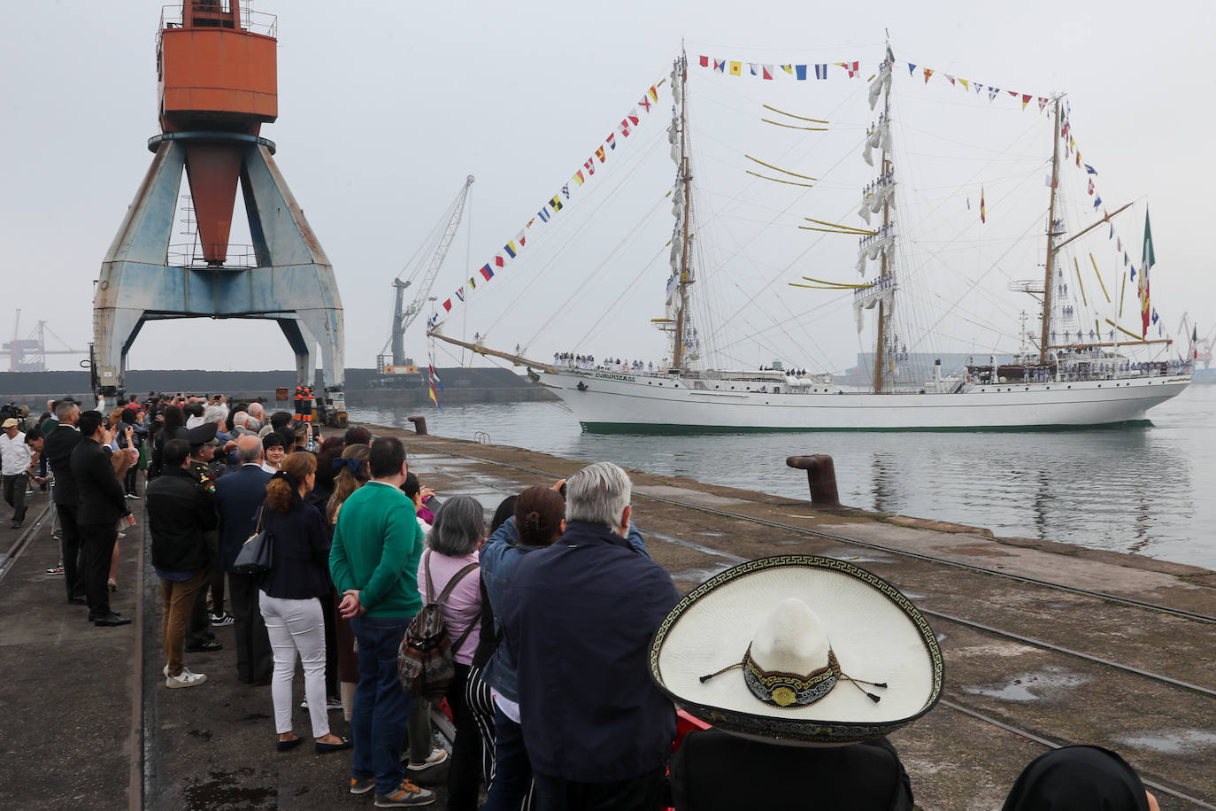
[[[80,582],[94,625],[126,625],[129,616],[109,609],[106,576],[118,541],[118,522],[131,514],[123,485],[109,461],[109,430],[100,411],[85,411],[77,423],[80,441],[72,451],[72,477],[80,495],[77,526],[80,531]]]

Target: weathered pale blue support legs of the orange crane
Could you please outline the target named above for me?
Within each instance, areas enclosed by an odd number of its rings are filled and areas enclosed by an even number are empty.
[[[253,267],[169,264],[186,145],[231,150],[241,160],[241,188]],[[145,321],[161,319],[269,319],[295,354],[297,384],[314,384],[320,345],[326,418],[345,421],[342,300],[333,266],[271,157],[274,145],[236,133],[170,133],[153,137],[156,152],[101,265],[94,298],[94,378],[113,405],[124,394],[126,354]]]

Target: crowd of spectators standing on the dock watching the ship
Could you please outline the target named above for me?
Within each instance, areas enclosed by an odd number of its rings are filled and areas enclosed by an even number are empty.
[[[649,658],[681,597],[649,556],[631,481],[615,464],[527,488],[486,528],[477,500],[440,503],[410,471],[401,440],[364,428],[322,440],[258,402],[153,395],[103,415],[66,399],[38,427],[4,428],[15,526],[27,485],[52,483],[62,565],[51,571],[62,573],[68,602],[88,606],[97,626],[130,623],[108,598],[146,479],[165,687],[207,683],[186,657],[223,649],[213,629],[235,626],[236,677],[270,686],[275,749],[287,753],[304,740],[293,725],[299,663],[313,750],[351,750],[349,792],[373,793],[377,807],[430,804],[424,785],[439,782],[455,811],[738,807],[730,792],[693,790],[724,778],[773,781],[764,807],[805,807],[804,792],[788,788],[794,772],[831,773],[833,792],[858,802],[882,795],[858,809],[912,807],[885,738],[794,748],[779,736],[744,742],[706,730],[671,759],[675,705]],[[270,569],[233,570],[258,531],[274,539]],[[450,751],[430,728],[440,697],[407,692],[398,661],[411,620],[440,593],[455,664],[441,697]],[[330,722],[339,711],[349,737]],[[722,773],[731,762],[751,773]],[[1113,802],[1100,807],[1155,807],[1136,773],[1096,748],[1037,759],[1006,807],[1099,807],[1082,802],[1088,795]],[[1066,804],[1035,804],[1059,798]]]

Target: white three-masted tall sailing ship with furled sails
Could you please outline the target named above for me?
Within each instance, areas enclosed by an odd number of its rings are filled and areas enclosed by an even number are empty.
[[[897,337],[896,303],[901,280],[897,272],[895,191],[896,167],[891,150],[890,46],[871,85],[871,108],[880,101],[876,123],[868,128],[865,158],[877,178],[862,192],[858,214],[866,227],[822,223],[835,232],[860,240],[857,271],[871,277],[861,283],[837,283],[803,277],[820,289],[852,291],[858,332],[865,312],[873,311],[876,344],[873,377],[865,390],[845,389],[832,374],[786,370],[781,364],[755,370],[709,368],[702,362],[698,327],[689,298],[696,278],[691,260],[693,171],[688,151],[688,106],[685,83],[687,57],[681,55],[671,73],[674,97],[669,129],[676,163],[671,275],[666,288],[666,314],[655,319],[669,337],[669,353],[659,367],[640,364],[595,362],[587,356],[554,356],[539,362],[518,354],[489,349],[484,342],[467,343],[443,334],[441,325],[428,333],[434,338],[527,365],[533,379],[550,387],[565,401],[584,430],[624,433],[676,433],[711,430],[986,430],[1028,428],[1080,428],[1144,422],[1148,411],[1177,396],[1190,382],[1190,366],[1180,361],[1137,362],[1128,347],[1167,344],[1149,339],[1108,320],[1103,328],[1086,333],[1074,308],[1063,303],[1066,291],[1060,249],[1091,229],[1108,223],[1127,205],[1068,235],[1057,212],[1062,133],[1060,97],[1053,105],[1052,175],[1046,227],[1046,263],[1041,281],[1015,283],[1015,289],[1036,298],[1041,308],[1037,339],[1025,340],[1012,362],[997,355],[981,357],[964,371],[944,374],[940,361],[924,379],[899,378],[899,361],[907,349]],[[983,203],[981,203],[983,204]],[[1130,205],[1130,204],[1128,204]],[[880,219],[874,219],[880,218]],[[820,223],[818,220],[814,220]],[[1145,223],[1147,227],[1147,223]],[[820,230],[820,229],[811,229]],[[1057,300],[1060,299],[1060,300]],[[1087,339],[1088,334],[1088,339]]]

